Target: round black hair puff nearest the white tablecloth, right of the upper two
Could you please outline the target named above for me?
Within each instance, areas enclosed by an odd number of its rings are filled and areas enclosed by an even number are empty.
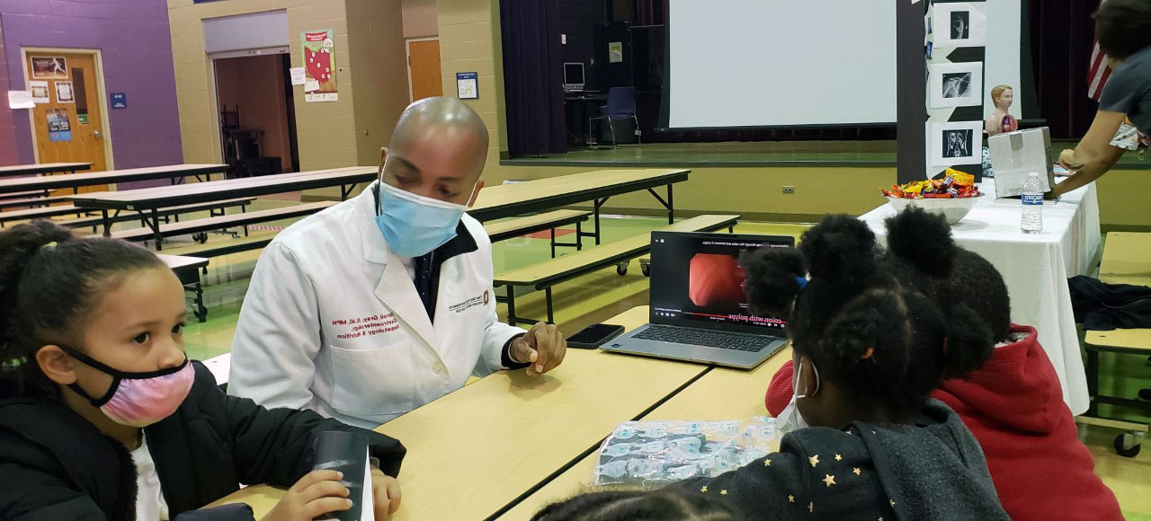
[[[943,215],[915,206],[887,217],[887,250],[933,277],[946,277],[955,256],[955,240]]]

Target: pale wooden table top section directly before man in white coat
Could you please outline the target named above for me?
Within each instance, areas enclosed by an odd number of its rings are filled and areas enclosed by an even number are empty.
[[[634,329],[647,320],[645,306],[610,322]],[[384,423],[376,430],[407,446],[395,519],[490,516],[708,369],[570,348],[543,377],[500,371]],[[259,516],[279,495],[249,486],[216,504],[244,501]]]

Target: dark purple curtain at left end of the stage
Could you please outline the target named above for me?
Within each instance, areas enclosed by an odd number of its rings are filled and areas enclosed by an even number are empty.
[[[500,0],[500,30],[509,154],[567,152],[558,2]]]

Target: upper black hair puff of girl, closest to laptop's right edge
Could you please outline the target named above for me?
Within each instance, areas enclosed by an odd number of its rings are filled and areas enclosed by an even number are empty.
[[[803,233],[799,245],[811,277],[854,283],[876,271],[875,233],[851,215],[828,215]]]

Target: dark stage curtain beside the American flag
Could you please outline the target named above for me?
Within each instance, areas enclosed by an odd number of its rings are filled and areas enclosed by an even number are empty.
[[[1091,14],[1098,0],[1030,0],[1031,66],[1039,114],[1051,137],[1078,139],[1099,104],[1088,98],[1088,68],[1095,44]]]

